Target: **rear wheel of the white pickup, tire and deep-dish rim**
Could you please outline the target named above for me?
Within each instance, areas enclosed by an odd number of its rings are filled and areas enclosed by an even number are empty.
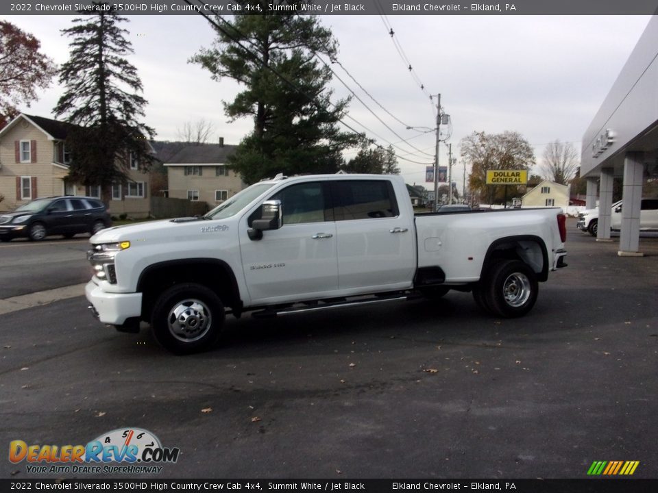
[[[483,305],[489,312],[512,318],[532,309],[539,284],[533,270],[524,262],[500,260],[489,270],[481,289]]]

